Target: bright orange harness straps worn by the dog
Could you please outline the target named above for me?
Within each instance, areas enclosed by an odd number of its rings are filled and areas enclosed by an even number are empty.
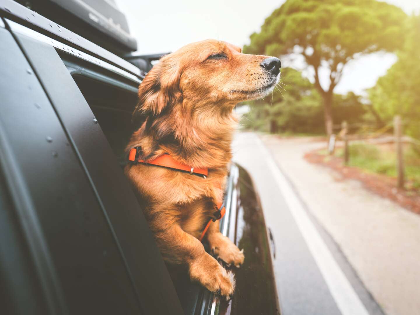
[[[153,160],[148,160],[148,161],[141,160],[139,158],[139,153],[140,153],[140,150],[137,150],[137,148],[131,149],[130,153],[129,153],[129,160],[132,161],[132,162],[151,164],[151,165],[156,165],[156,166],[163,166],[165,168],[172,168],[172,169],[178,170],[178,171],[186,171],[186,172],[189,172],[190,174],[201,175],[204,178],[206,178],[207,175],[208,175],[208,169],[207,168],[194,168],[192,166],[181,164],[181,163],[173,160],[171,155],[169,155],[168,153],[165,153],[163,155],[160,155],[160,156],[156,157]],[[206,234],[208,228],[210,227],[210,224],[212,223],[212,221],[214,222],[215,220],[220,220],[225,215],[226,209],[225,209],[225,206],[224,206],[223,202],[218,203],[217,207],[218,207],[218,215],[217,215],[218,218],[210,219],[210,221],[207,223],[206,227],[204,228],[202,234],[199,237],[200,241],[203,239],[203,237]]]

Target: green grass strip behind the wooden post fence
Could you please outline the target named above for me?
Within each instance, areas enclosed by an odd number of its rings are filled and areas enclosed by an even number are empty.
[[[325,152],[325,153],[324,153]],[[326,154],[326,150],[320,154]],[[339,148],[336,156],[343,157],[344,150]],[[362,170],[396,177],[396,154],[389,147],[380,149],[374,144],[350,144],[349,166]],[[407,188],[420,188],[420,155],[411,147],[404,148],[405,178],[409,181]]]

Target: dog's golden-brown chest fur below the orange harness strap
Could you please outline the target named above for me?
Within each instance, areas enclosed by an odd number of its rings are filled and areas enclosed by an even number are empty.
[[[153,165],[135,164],[126,168],[136,184],[144,214],[152,230],[176,223],[198,237],[223,201],[227,168],[209,170],[207,178]]]

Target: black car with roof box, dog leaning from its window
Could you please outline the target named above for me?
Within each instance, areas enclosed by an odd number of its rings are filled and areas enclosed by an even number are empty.
[[[0,313],[280,314],[260,202],[235,164],[220,225],[245,252],[233,299],[170,278],[123,174],[160,55],[132,53],[112,1],[0,0],[0,17]]]

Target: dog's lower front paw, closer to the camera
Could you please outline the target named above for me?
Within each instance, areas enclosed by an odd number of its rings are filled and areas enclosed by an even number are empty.
[[[209,291],[220,294],[226,300],[231,299],[235,291],[233,273],[226,271],[207,253],[189,264],[189,276],[192,281],[198,281]]]

